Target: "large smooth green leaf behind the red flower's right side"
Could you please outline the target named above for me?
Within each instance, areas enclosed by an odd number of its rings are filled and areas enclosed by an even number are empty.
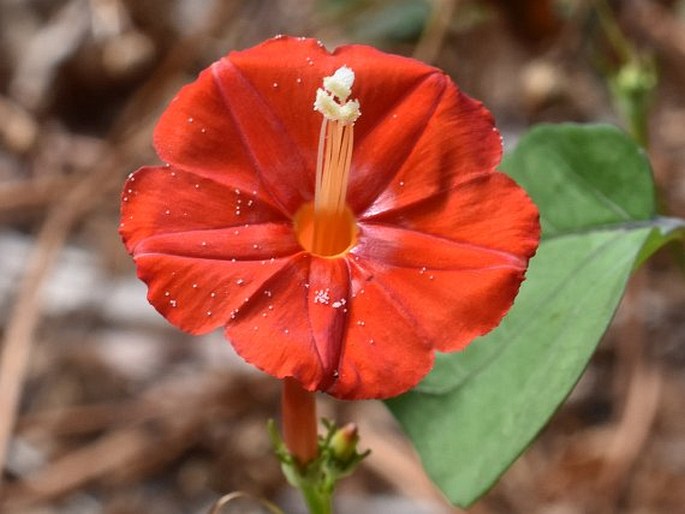
[[[503,169],[536,202],[543,226],[516,303],[496,330],[440,355],[414,391],[387,402],[431,478],[462,507],[571,391],[636,263],[685,227],[656,216],[649,162],[613,127],[535,128]]]

